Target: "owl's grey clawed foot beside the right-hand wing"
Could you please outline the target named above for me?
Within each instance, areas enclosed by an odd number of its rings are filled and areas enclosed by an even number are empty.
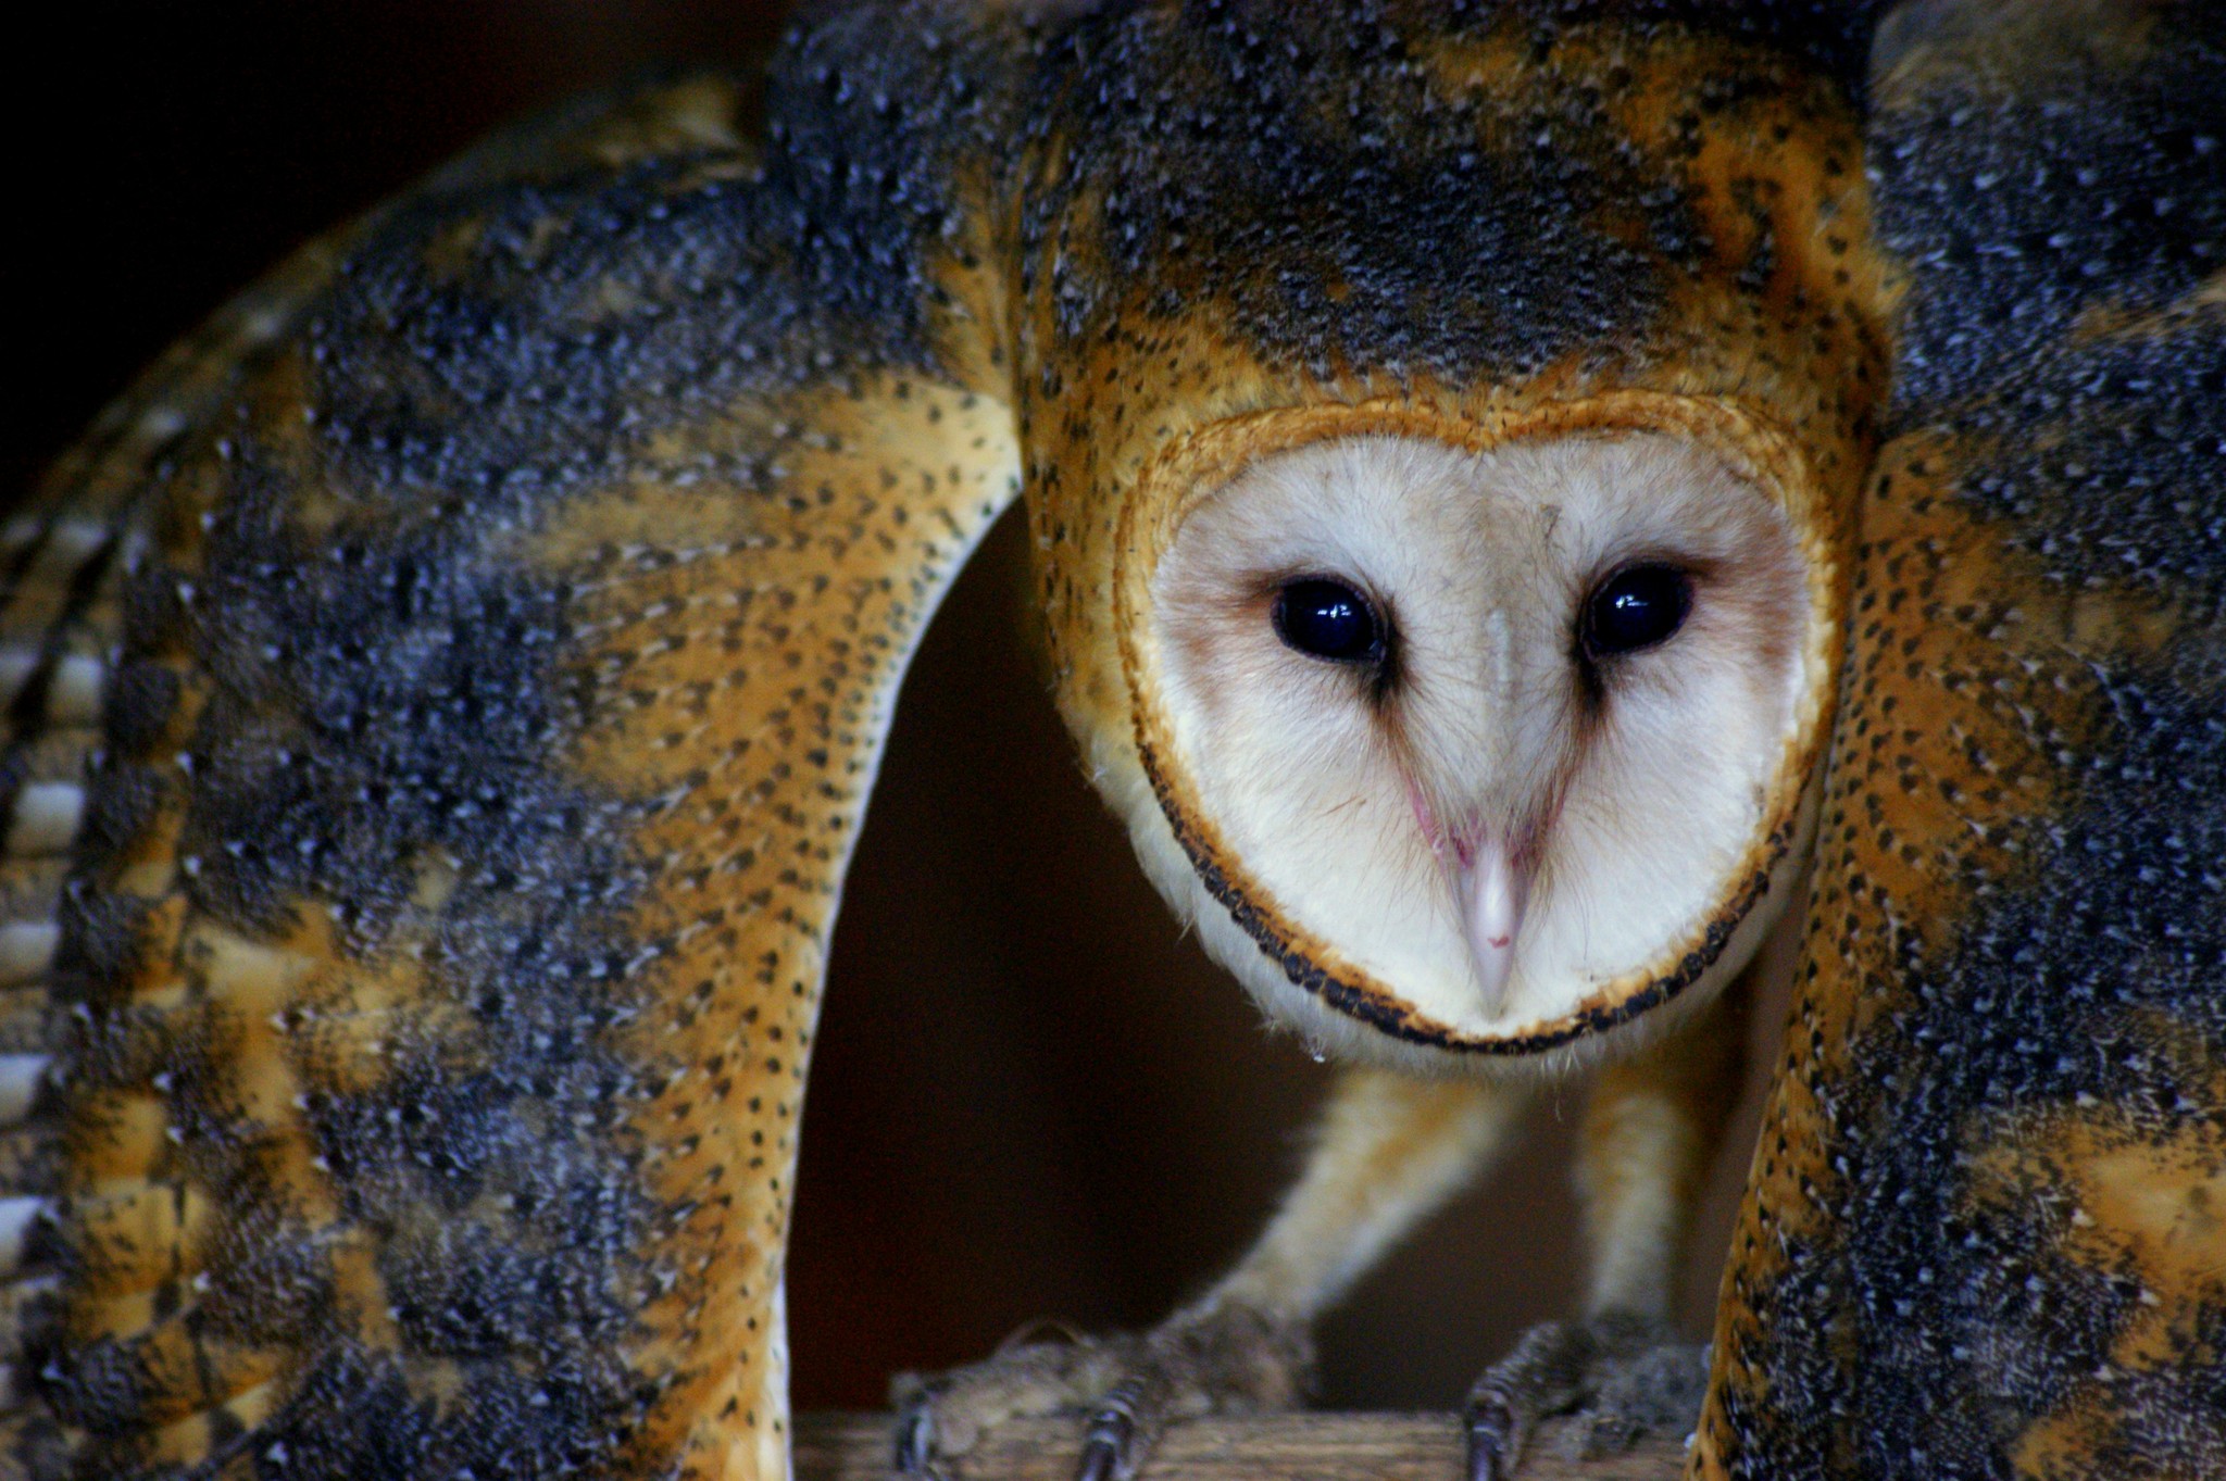
[[[1690,1432],[1707,1388],[1707,1345],[1678,1343],[1638,1316],[1549,1321],[1469,1390],[1469,1481],[1507,1481],[1540,1419],[1574,1414],[1569,1459],[1629,1450],[1672,1425]]]

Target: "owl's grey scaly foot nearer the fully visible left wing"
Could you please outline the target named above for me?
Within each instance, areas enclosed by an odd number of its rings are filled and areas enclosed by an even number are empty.
[[[1022,1341],[946,1374],[902,1374],[897,1472],[946,1477],[1006,1419],[1075,1412],[1077,1481],[1129,1481],[1178,1419],[1296,1408],[1313,1368],[1302,1325],[1240,1305],[1182,1312],[1140,1336]]]

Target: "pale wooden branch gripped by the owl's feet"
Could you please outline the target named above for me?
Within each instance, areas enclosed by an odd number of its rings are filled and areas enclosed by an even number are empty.
[[[1518,1481],[1674,1481],[1683,1437],[1656,1437],[1600,1461],[1569,1461],[1547,1425]],[[888,1414],[801,1414],[797,1481],[890,1481]],[[1015,1419],[944,1465],[946,1481],[1073,1481],[1082,1425]],[[1140,1481],[1458,1481],[1451,1414],[1264,1414],[1198,1419],[1166,1432]]]

